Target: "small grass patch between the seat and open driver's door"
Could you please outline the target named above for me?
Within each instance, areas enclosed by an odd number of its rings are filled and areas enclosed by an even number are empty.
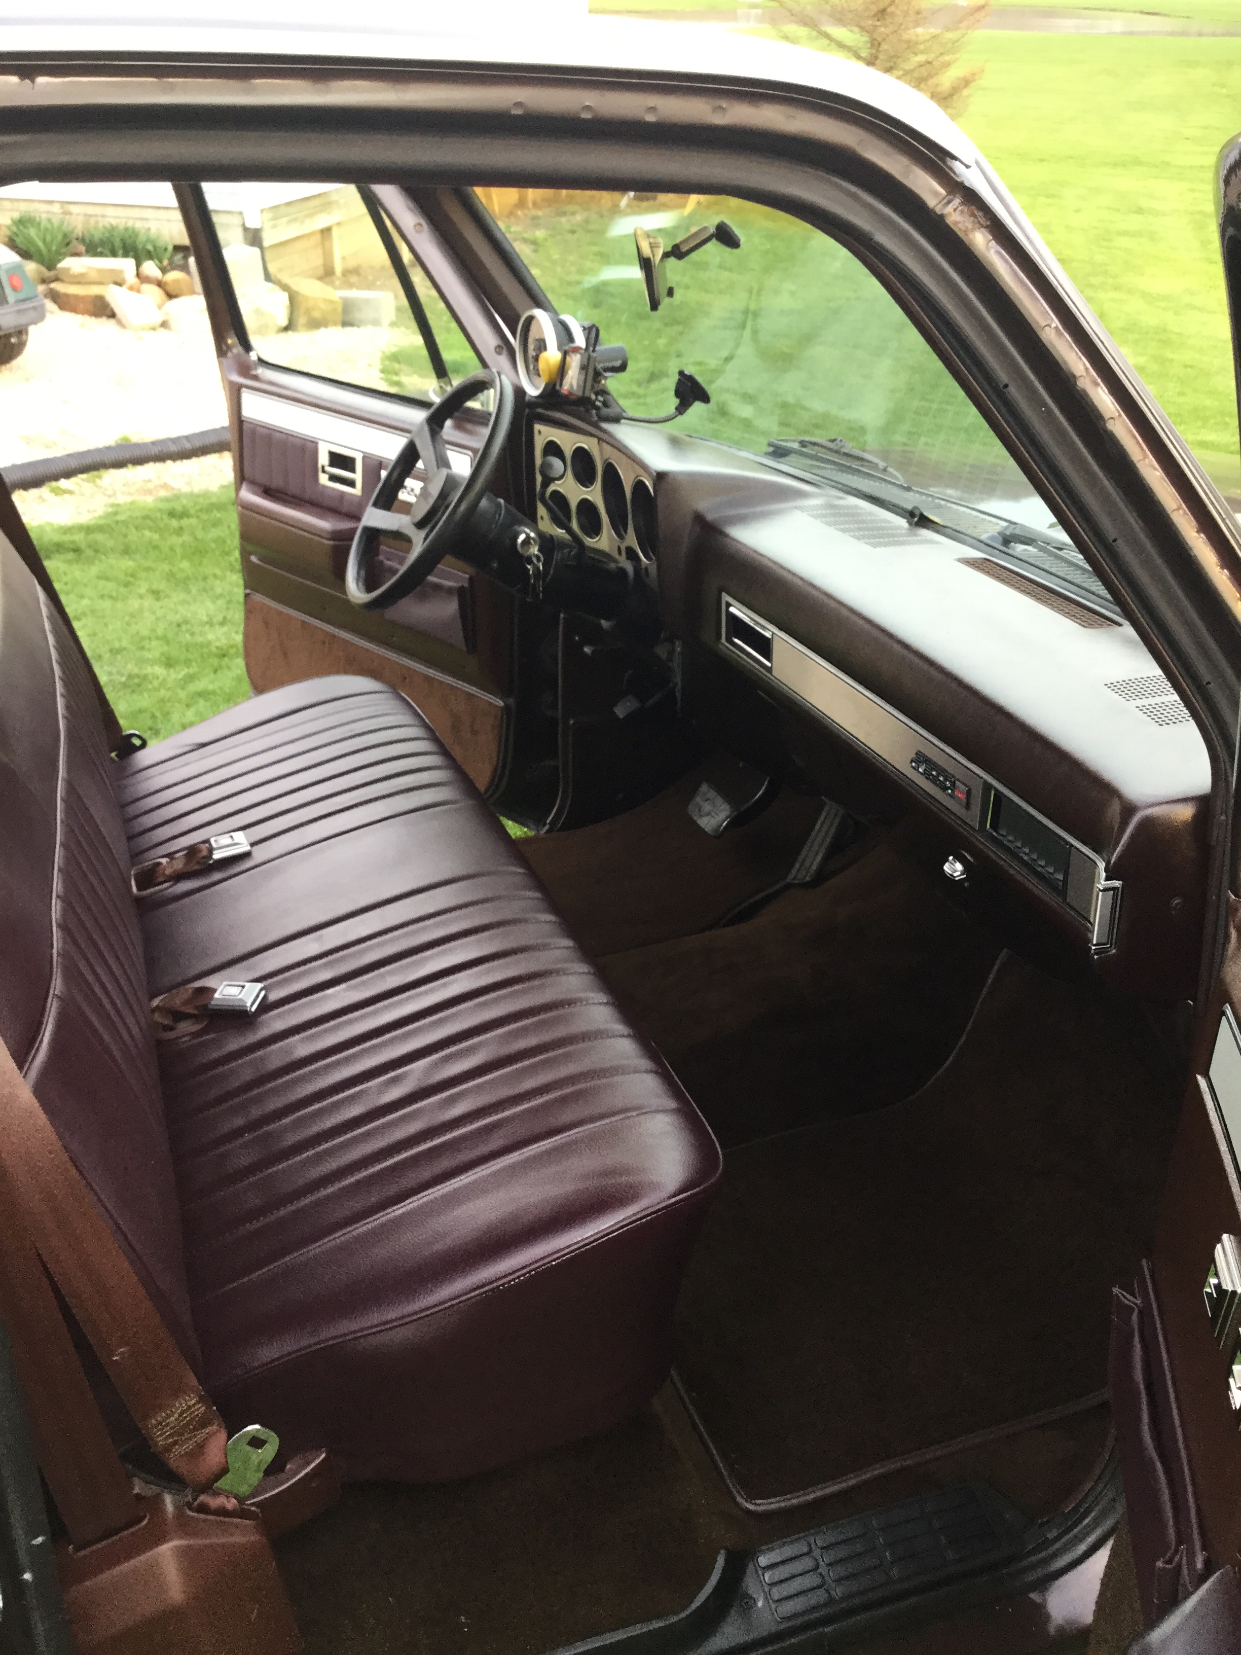
[[[31,535],[126,730],[159,741],[245,700],[232,488],[35,523]]]

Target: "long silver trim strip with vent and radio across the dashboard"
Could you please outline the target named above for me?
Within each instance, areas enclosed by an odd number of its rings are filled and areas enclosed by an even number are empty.
[[[769,659],[766,640],[769,640]],[[879,758],[907,786],[915,788],[953,821],[985,839],[1019,874],[1051,894],[1085,925],[1092,955],[1102,957],[1115,948],[1122,884],[1107,879],[1107,867],[1097,851],[1074,839],[1057,823],[1049,821],[1009,788],[945,746],[922,725],[726,591],[720,592],[718,642],[730,657],[743,662],[751,672],[774,679],[870,756]],[[1034,849],[1023,851],[1011,834],[1006,839],[999,837],[998,813],[1004,803],[1011,803],[1047,829],[1056,847],[1064,852],[1062,867],[1042,872]]]

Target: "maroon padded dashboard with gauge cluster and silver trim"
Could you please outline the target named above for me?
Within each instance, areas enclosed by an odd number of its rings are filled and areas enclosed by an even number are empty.
[[[1119,986],[1193,993],[1210,758],[1076,551],[980,549],[673,430],[543,417],[536,465],[548,445],[561,510],[640,568],[690,670],[715,667],[708,717],[761,702],[773,763],[796,748],[859,814],[864,760],[937,819],[948,877],[986,864]]]

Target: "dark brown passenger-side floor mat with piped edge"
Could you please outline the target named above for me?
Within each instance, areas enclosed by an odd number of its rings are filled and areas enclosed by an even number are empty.
[[[1175,1097],[1133,1008],[1006,957],[923,1092],[731,1152],[677,1367],[745,1494],[793,1496],[1100,1390],[1110,1289],[1150,1245]]]

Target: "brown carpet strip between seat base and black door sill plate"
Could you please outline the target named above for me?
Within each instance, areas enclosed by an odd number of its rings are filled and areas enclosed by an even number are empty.
[[[645,1408],[462,1483],[346,1488],[276,1556],[308,1655],[539,1655],[688,1607],[720,1544]]]

